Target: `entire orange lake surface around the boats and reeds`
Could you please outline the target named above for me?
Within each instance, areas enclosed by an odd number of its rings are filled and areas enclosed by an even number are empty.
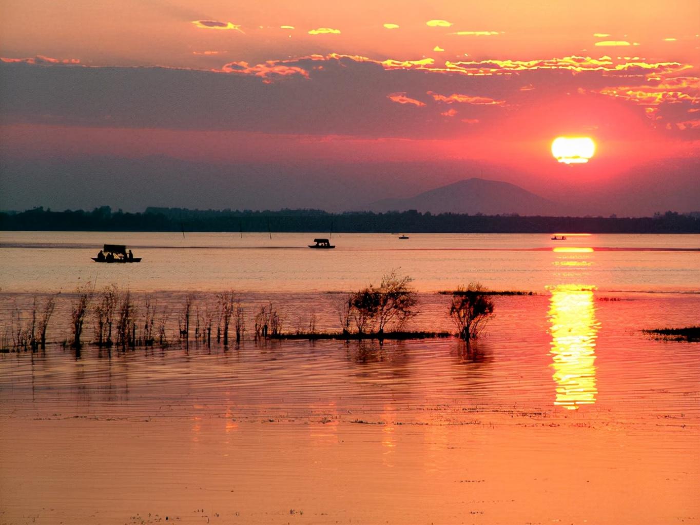
[[[334,235],[332,252],[296,247],[313,237],[3,233],[1,322],[62,289],[50,326],[61,340],[84,280],[150,293],[171,331],[186,291],[203,310],[229,288],[248,310],[279,305],[289,329],[314,312],[337,330],[325,292],[398,267],[421,292],[419,329],[450,328],[448,298],[432,292],[460,282],[536,295],[496,297],[470,350],[244,340],[0,354],[0,523],[700,519],[700,345],[640,331],[699,323],[700,252],[669,250],[696,250],[699,236]],[[104,242],[144,262],[85,262]]]

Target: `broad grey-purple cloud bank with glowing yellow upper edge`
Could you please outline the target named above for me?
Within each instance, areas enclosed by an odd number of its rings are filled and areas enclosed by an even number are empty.
[[[665,130],[671,123],[671,131],[691,140],[697,129],[675,127],[694,120],[696,114],[687,110],[699,106],[698,79],[679,75],[689,67],[610,57],[452,63],[330,54],[260,64],[230,61],[214,70],[4,59],[0,122],[447,138],[476,132],[466,125],[474,122],[440,116],[451,107],[459,110],[459,104],[469,113],[460,110],[458,117],[478,120],[479,129],[500,129],[530,111],[522,122],[535,122],[537,129],[554,120],[604,121],[599,125],[605,133],[629,136],[630,127]],[[573,116],[546,113],[543,108],[557,101]],[[653,120],[645,116],[650,106],[659,107]],[[615,112],[634,117],[620,120]]]

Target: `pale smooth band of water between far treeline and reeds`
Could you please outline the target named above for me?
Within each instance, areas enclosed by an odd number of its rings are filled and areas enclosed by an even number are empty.
[[[421,292],[478,280],[492,289],[544,292],[585,276],[601,290],[700,291],[700,235],[334,234],[335,250],[309,250],[328,233],[0,233],[3,292],[64,292],[79,280],[132,292],[329,292],[357,289],[400,268]],[[126,244],[139,264],[96,264],[104,243]],[[554,252],[552,250],[594,250]],[[629,251],[631,250],[631,251]],[[657,251],[694,250],[694,251]]]

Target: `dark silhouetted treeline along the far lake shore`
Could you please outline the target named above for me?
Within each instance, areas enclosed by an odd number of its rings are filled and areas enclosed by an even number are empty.
[[[0,213],[5,231],[183,231],[229,233],[700,233],[700,216],[675,212],[654,217],[521,217],[455,213],[322,210],[187,210],[147,208],[144,213],[52,211]]]

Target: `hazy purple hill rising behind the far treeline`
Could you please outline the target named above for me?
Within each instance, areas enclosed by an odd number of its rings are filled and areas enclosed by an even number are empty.
[[[382,199],[370,203],[375,212],[418,210],[430,213],[497,215],[556,215],[561,206],[510,182],[470,178],[430,189],[409,199]]]

